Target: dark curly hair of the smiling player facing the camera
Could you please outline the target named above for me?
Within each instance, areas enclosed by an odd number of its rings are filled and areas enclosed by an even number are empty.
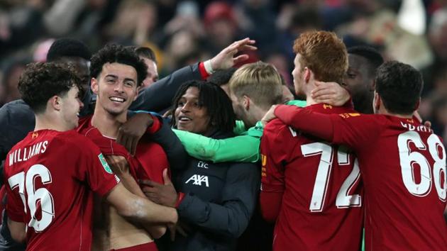
[[[90,65],[90,77],[98,78],[103,65],[114,62],[130,65],[135,68],[137,72],[138,87],[143,84],[143,80],[146,78],[148,72],[148,67],[143,60],[140,60],[132,48],[126,48],[123,45],[116,44],[106,45],[93,55],[92,64]]]

